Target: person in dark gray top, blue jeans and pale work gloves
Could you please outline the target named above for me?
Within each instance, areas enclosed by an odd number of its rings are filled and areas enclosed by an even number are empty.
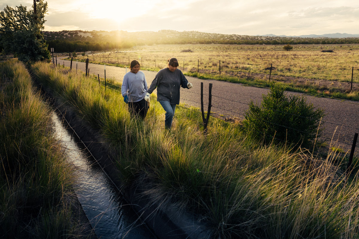
[[[176,58],[168,59],[168,67],[157,73],[145,96],[145,100],[149,102],[150,94],[157,88],[157,101],[166,111],[164,120],[166,129],[171,129],[174,110],[176,110],[176,105],[180,104],[180,87],[192,88],[192,83],[187,81],[182,71],[177,67]]]

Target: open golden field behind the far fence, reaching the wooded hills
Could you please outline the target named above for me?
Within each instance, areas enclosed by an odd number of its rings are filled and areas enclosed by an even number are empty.
[[[183,52],[191,50],[192,52]],[[322,52],[333,50],[333,52]],[[167,59],[176,57],[183,72],[241,76],[262,73],[267,78],[272,64],[272,76],[301,77],[330,81],[359,83],[359,45],[294,45],[284,51],[283,45],[158,45],[134,47],[121,53],[89,55],[90,62],[129,65],[137,59],[144,69],[159,70]],[[83,59],[84,57],[80,57]],[[220,63],[219,63],[220,61]],[[184,65],[183,65],[184,63]],[[145,69],[144,69],[145,70]],[[253,76],[254,77],[254,76]]]

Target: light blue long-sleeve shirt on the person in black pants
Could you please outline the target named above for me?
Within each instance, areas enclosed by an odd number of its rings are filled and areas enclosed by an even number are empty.
[[[145,74],[142,71],[132,73],[127,72],[123,76],[121,94],[129,97],[129,102],[138,102],[142,100],[147,93],[147,82]]]

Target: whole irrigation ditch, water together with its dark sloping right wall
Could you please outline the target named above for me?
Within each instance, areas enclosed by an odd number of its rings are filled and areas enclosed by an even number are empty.
[[[151,188],[145,179],[124,190],[121,173],[101,138],[31,75],[56,110],[52,116],[55,131],[69,147],[70,157],[79,169],[76,194],[98,238],[210,238],[209,230],[194,215],[148,196],[146,192]]]

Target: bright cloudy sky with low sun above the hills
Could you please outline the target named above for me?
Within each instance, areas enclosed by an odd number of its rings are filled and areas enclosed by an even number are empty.
[[[31,8],[33,0],[0,0]],[[46,31],[359,34],[358,0],[48,0]]]

